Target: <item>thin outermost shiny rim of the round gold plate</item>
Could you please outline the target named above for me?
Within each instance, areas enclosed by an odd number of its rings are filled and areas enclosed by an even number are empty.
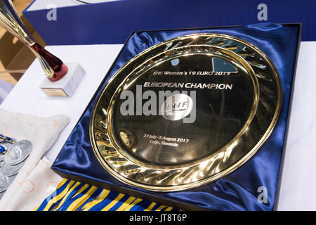
[[[121,70],[124,70],[124,68],[129,66],[129,64],[131,62],[133,62],[133,60],[136,60],[136,58],[139,58],[140,56],[143,56],[145,53],[151,51],[154,48],[157,48],[157,46],[162,46],[164,44],[170,43],[171,41],[185,39],[187,37],[204,37],[204,36],[205,37],[209,37],[209,36],[211,36],[211,37],[223,37],[223,38],[226,38],[226,39],[232,39],[232,40],[236,40],[236,41],[242,42],[242,44],[244,44],[245,46],[248,46],[251,49],[254,49],[254,51],[259,53],[259,55],[262,56],[266,60],[266,62],[268,63],[269,67],[272,70],[272,75],[275,78],[275,82],[276,82],[276,86],[277,86],[277,105],[276,105],[276,108],[275,108],[275,113],[274,113],[274,115],[272,117],[272,121],[270,122],[270,126],[268,127],[268,129],[266,129],[266,131],[263,134],[263,136],[261,137],[260,141],[258,141],[258,143],[256,143],[254,148],[249,150],[248,153],[246,153],[243,158],[238,160],[235,164],[231,165],[227,169],[224,169],[223,171],[218,172],[218,174],[215,174],[213,176],[209,176],[206,179],[202,179],[202,180],[199,180],[199,181],[196,181],[196,182],[192,182],[190,184],[181,184],[181,185],[177,185],[177,186],[155,186],[155,185],[148,185],[148,184],[140,184],[140,183],[138,183],[136,181],[133,181],[131,179],[127,179],[124,176],[121,176],[120,174],[115,172],[112,169],[112,167],[107,165],[107,162],[105,162],[103,156],[100,154],[100,152],[98,150],[98,146],[96,146],[96,139],[95,139],[94,132],[93,132],[93,124],[95,122],[94,119],[95,119],[95,115],[96,115],[97,105],[98,105],[98,103],[100,101],[101,96],[103,96],[105,90],[107,89],[107,86],[115,79],[115,77],[117,77],[117,75],[121,72]],[[229,51],[227,49],[225,49],[225,50]],[[175,39],[163,41],[160,44],[152,46],[149,49],[146,49],[142,53],[138,54],[137,56],[135,56],[134,58],[129,60],[128,63],[126,63],[123,67],[121,67],[119,70],[117,70],[117,72],[115,72],[115,74],[111,77],[111,79],[107,82],[107,84],[103,88],[103,91],[101,91],[101,94],[98,96],[97,101],[96,101],[95,105],[93,106],[93,112],[91,113],[91,122],[90,122],[91,144],[93,146],[93,151],[94,151],[94,153],[96,153],[98,161],[101,163],[101,165],[103,165],[103,167],[107,170],[107,172],[110,172],[110,174],[112,174],[112,176],[114,176],[119,181],[123,182],[124,184],[136,186],[138,188],[144,188],[144,189],[150,190],[150,191],[162,191],[162,192],[164,192],[164,191],[169,191],[169,192],[170,191],[183,191],[183,190],[186,190],[186,189],[197,188],[199,186],[203,186],[205,184],[209,184],[211,181],[215,181],[215,180],[219,179],[220,177],[223,177],[223,176],[225,176],[227,174],[230,174],[232,171],[234,171],[235,169],[237,169],[238,167],[243,165],[254,154],[256,154],[258,152],[258,150],[261,148],[261,146],[263,145],[263,143],[268,139],[268,137],[270,136],[273,128],[275,127],[275,124],[277,123],[277,118],[279,117],[279,113],[280,113],[280,110],[281,110],[281,104],[282,104],[282,84],[281,84],[281,80],[280,80],[279,74],[277,72],[277,69],[275,68],[275,65],[273,65],[273,63],[268,58],[268,56],[265,56],[265,53],[263,53],[263,51],[261,51],[256,46],[254,46],[254,45],[252,45],[252,44],[250,44],[250,43],[248,43],[248,42],[246,42],[246,41],[244,41],[242,39],[239,39],[239,38],[236,38],[236,37],[231,37],[231,36],[228,36],[228,35],[225,35],[225,34],[209,34],[209,33],[188,34],[188,35],[185,35],[185,36],[182,36],[182,37],[177,37]],[[168,169],[166,169],[166,170],[168,170]]]

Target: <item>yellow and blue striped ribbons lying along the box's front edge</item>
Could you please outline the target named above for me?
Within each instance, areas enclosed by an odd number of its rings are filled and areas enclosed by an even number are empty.
[[[37,211],[178,211],[173,207],[63,179]]]

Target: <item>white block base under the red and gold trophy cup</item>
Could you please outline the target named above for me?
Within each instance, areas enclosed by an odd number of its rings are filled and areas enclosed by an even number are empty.
[[[50,82],[47,78],[39,86],[46,95],[54,97],[71,97],[74,95],[81,79],[86,72],[79,63],[66,63],[68,72],[57,82]]]

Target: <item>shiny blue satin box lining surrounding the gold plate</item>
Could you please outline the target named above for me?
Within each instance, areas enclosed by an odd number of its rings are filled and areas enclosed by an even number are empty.
[[[223,27],[218,29],[135,32],[126,42],[114,68],[107,76],[107,80],[133,56],[150,46],[185,34],[203,32],[228,34],[249,41],[272,60],[282,79],[283,86],[282,111],[279,115],[279,120],[270,138],[261,150],[242,167],[223,179],[190,191],[176,193],[141,191],[154,193],[160,197],[189,203],[209,210],[273,210],[284,135],[287,127],[289,100],[299,36],[298,25],[261,23],[244,27]],[[101,89],[98,92],[100,93],[100,91]],[[95,101],[96,99],[88,106],[83,117],[81,117],[81,120],[79,120],[70,134],[52,168],[86,179],[127,186],[126,184],[121,184],[103,169],[91,148],[89,122]],[[262,192],[260,190],[258,192],[258,188],[261,186],[268,191],[268,203],[258,203],[258,195]],[[140,190],[131,186],[127,187]]]

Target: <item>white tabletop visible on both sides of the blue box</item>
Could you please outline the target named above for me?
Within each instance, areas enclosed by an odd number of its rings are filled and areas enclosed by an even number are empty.
[[[46,153],[46,158],[53,162],[122,46],[47,46],[48,51],[66,64],[79,62],[86,70],[74,96],[46,96],[39,89],[45,79],[44,72],[35,60],[0,108],[39,117],[58,114],[70,117],[70,123]],[[277,210],[316,210],[316,149],[313,145],[316,137],[315,52],[316,41],[301,43]]]

